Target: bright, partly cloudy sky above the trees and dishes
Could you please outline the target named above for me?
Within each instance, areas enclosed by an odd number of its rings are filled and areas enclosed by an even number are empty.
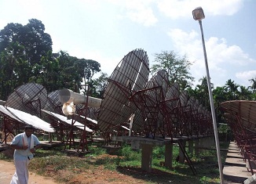
[[[53,40],[53,52],[64,50],[101,63],[112,74],[133,49],[154,54],[174,51],[193,62],[191,74],[206,76],[199,23],[192,10],[201,6],[211,82],[229,79],[250,86],[256,77],[256,1],[254,0],[1,0],[0,29],[7,23],[41,20]]]

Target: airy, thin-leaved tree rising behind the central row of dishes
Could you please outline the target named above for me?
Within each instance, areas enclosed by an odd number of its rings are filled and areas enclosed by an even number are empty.
[[[192,63],[187,60],[186,56],[178,56],[174,51],[162,51],[161,53],[155,53],[154,62],[156,64],[152,65],[152,72],[166,70],[170,84],[177,82],[181,90],[192,85],[194,78],[188,72]]]

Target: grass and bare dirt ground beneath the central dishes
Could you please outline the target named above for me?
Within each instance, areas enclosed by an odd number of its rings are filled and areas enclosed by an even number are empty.
[[[226,147],[225,147],[226,146]],[[221,148],[227,148],[228,143]],[[31,160],[30,171],[41,175],[58,178],[64,183],[80,183],[81,175],[92,175],[104,169],[105,171],[117,171],[123,175],[132,176],[134,179],[142,179],[141,183],[219,183],[218,159],[214,150],[206,150],[196,156],[188,153],[196,168],[197,175],[192,174],[191,168],[185,161],[181,164],[176,161],[179,147],[173,147],[173,168],[166,168],[165,147],[155,146],[152,154],[152,173],[141,170],[141,150],[134,151],[130,145],[123,144],[117,155],[109,155],[101,146],[89,145],[90,153],[85,157],[67,157],[64,147],[56,147],[52,150],[37,150],[35,159]],[[5,160],[0,153],[0,159]],[[225,162],[225,157],[223,158]],[[102,171],[104,172],[104,171]],[[86,173],[86,174],[85,174]],[[97,177],[97,176],[96,176]],[[115,179],[106,179],[113,182]]]

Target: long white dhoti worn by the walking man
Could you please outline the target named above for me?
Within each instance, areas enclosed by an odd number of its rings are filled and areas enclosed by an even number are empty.
[[[28,164],[29,160],[26,161],[15,161],[15,168],[16,171],[13,175],[13,178],[10,182],[10,184],[27,184],[28,183]]]

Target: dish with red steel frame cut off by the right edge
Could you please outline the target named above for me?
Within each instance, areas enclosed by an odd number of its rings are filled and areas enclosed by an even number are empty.
[[[221,103],[225,121],[232,128],[248,171],[254,175],[256,164],[256,101],[233,100]]]

